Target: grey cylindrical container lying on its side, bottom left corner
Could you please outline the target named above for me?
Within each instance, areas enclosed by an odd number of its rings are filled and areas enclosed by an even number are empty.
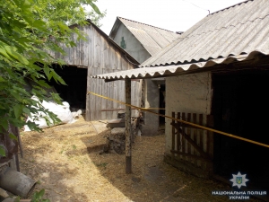
[[[22,198],[27,198],[36,185],[36,181],[9,167],[0,174],[0,188]]]

